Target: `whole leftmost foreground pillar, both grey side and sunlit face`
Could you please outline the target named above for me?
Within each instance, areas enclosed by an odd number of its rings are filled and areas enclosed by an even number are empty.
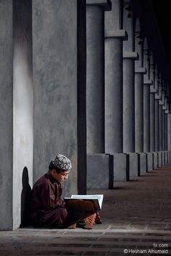
[[[31,1],[0,1],[0,229],[25,223],[33,176]],[[7,198],[7,200],[4,200]],[[27,216],[28,217],[28,216]]]

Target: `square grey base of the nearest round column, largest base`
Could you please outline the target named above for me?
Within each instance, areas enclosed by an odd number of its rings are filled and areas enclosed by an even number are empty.
[[[87,155],[87,189],[112,189],[113,179],[112,155]]]

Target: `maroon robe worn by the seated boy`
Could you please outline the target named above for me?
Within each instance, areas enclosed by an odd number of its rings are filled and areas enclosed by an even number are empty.
[[[36,181],[31,191],[30,211],[34,226],[60,228],[66,226],[68,212],[62,186],[48,172]]]

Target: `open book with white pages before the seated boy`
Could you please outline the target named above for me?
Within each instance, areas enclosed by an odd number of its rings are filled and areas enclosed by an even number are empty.
[[[83,199],[93,202],[96,210],[101,210],[102,202],[104,199],[103,194],[72,194],[71,197],[64,197],[64,201],[67,203],[68,200]]]

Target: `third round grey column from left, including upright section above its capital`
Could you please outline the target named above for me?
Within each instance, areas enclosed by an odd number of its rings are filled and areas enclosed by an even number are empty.
[[[128,1],[129,2],[129,1]],[[133,19],[128,18],[127,5],[123,7],[123,28],[128,41],[123,42],[123,152],[135,152],[135,60]]]

